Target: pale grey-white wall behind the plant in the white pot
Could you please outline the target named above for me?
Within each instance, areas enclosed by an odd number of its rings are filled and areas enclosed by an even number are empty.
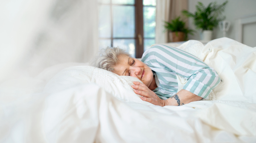
[[[208,6],[209,3],[216,1],[217,4],[222,4],[226,0],[188,0],[189,11],[194,13],[195,6],[198,1],[202,2],[204,6]],[[229,31],[226,33],[226,37],[235,39],[235,21],[240,17],[244,17],[250,14],[256,14],[256,0],[228,0],[225,11],[223,15],[226,16],[226,20],[231,22]],[[189,28],[195,29],[193,20],[189,18]],[[256,37],[256,23],[244,25],[244,38],[243,43],[251,47],[256,47],[256,40],[247,39],[250,37]],[[199,30],[194,34],[194,36],[189,35],[189,39],[200,39]],[[254,31],[254,32],[253,32]],[[220,29],[217,27],[213,31],[213,39],[221,38],[223,36]],[[255,39],[255,38],[254,38]]]

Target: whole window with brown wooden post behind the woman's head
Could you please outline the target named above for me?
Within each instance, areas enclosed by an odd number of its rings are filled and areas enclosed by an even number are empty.
[[[140,58],[155,43],[156,0],[99,0],[99,48]]]

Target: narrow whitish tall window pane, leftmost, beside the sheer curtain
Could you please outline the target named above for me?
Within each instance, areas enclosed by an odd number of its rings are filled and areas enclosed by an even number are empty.
[[[99,6],[99,37],[111,38],[110,6]]]

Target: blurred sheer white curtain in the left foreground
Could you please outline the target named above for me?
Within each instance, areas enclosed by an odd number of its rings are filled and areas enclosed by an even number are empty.
[[[98,51],[97,0],[1,0],[0,83]]]

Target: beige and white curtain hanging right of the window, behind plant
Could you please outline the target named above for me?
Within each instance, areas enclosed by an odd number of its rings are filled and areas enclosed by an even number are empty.
[[[182,10],[188,9],[187,0],[157,0],[156,8],[156,43],[169,42],[168,31],[165,31],[165,21],[181,16]],[[182,17],[185,22],[187,19]]]

